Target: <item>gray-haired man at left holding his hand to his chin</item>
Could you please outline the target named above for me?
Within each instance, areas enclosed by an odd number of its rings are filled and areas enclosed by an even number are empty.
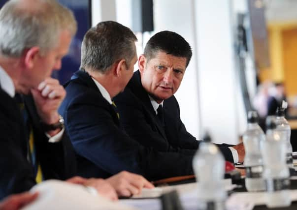
[[[76,173],[58,113],[66,91],[49,78],[60,69],[75,32],[72,12],[55,0],[8,1],[0,10],[0,199],[39,181],[65,180]],[[67,181],[92,186],[110,199],[152,187],[127,172],[106,181]]]

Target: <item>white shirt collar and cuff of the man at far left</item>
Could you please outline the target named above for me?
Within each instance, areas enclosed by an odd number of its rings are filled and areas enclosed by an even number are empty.
[[[12,79],[9,77],[9,75],[4,71],[4,69],[0,66],[0,87],[2,90],[4,90],[10,97],[15,96],[15,87],[12,82]],[[64,133],[64,128],[57,133],[54,136],[50,136],[48,133],[45,133],[45,135],[49,138],[48,142],[50,143],[55,143],[55,142],[60,142],[61,138]]]

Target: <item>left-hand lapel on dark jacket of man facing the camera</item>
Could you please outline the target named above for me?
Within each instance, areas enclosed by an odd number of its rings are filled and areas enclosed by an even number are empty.
[[[158,128],[160,134],[167,140],[165,130],[156,115],[156,112],[152,106],[151,100],[150,100],[146,90],[144,90],[144,88],[142,87],[139,70],[134,72],[131,82],[134,84],[134,87],[131,87],[131,90],[143,102],[145,109],[147,110],[148,113],[150,113],[150,116],[152,117],[153,122],[155,123],[156,127]]]

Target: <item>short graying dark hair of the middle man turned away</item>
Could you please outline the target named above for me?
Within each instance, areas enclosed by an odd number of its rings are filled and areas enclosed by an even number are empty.
[[[87,31],[81,47],[80,68],[92,68],[102,73],[114,62],[125,59],[130,65],[136,54],[134,33],[127,27],[114,21],[100,22]]]

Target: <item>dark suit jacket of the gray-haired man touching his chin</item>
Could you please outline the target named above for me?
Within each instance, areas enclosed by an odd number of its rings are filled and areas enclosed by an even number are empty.
[[[27,160],[27,135],[19,106],[15,99],[1,89],[0,101],[0,170],[2,171],[0,199],[2,199],[12,193],[30,190],[36,182],[33,166]],[[25,105],[33,128],[36,158],[40,161],[44,179],[65,180],[73,176],[74,154],[66,135],[59,143],[48,143],[48,138],[40,128],[40,119],[30,96],[25,97]]]

